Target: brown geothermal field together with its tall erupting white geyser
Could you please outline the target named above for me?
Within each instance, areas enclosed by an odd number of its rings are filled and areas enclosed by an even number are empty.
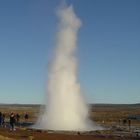
[[[0,104],[4,119],[0,140],[140,140],[140,104],[86,102],[78,81],[77,38],[82,20],[65,3],[56,15],[58,29],[47,66],[46,100],[42,105]],[[12,112],[20,116],[15,129],[10,129]]]

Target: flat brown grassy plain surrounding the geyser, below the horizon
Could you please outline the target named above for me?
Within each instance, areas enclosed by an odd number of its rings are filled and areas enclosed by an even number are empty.
[[[138,140],[140,139],[140,104],[90,105],[90,118],[103,127],[100,131],[67,132],[32,129],[39,116],[40,105],[1,104],[5,124],[0,128],[0,140]],[[16,131],[9,129],[11,112],[20,115]],[[29,115],[25,121],[24,115]]]

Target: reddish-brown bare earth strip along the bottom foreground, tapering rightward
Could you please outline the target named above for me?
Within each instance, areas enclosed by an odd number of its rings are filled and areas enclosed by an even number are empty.
[[[96,134],[63,134],[63,133],[48,133],[47,131],[33,131],[17,129],[10,132],[8,129],[1,128],[0,135],[9,140],[138,140],[138,138],[117,137],[117,136],[98,136]],[[1,140],[1,139],[0,139]],[[4,140],[4,139],[2,139]],[[5,139],[8,140],[8,139]]]

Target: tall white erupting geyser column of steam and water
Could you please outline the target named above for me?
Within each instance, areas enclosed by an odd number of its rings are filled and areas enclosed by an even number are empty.
[[[72,5],[59,8],[57,15],[59,30],[48,70],[47,103],[37,125],[49,130],[97,129],[88,119],[88,108],[77,82],[75,51],[81,21],[75,15]]]

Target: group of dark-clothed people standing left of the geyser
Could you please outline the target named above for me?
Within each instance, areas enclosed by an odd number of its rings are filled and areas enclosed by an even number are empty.
[[[24,119],[27,122],[29,118],[29,115],[27,113],[25,113],[24,115]],[[15,125],[20,123],[20,115],[17,113],[13,113],[11,112],[11,114],[9,115],[9,125],[10,125],[10,130],[11,131],[15,131]],[[4,127],[5,125],[5,114],[0,112],[0,127]]]

